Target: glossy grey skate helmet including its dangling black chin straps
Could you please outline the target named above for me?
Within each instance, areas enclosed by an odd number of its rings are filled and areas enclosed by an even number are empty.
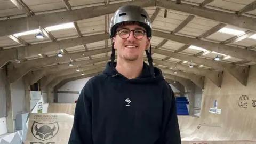
[[[138,23],[141,27],[146,29],[147,37],[152,36],[152,24],[151,24],[151,19],[146,12],[146,10],[142,9],[140,6],[136,5],[125,5],[122,7],[119,7],[119,9],[116,10],[114,13],[113,17],[111,18],[110,25],[109,25],[109,35],[110,38],[112,39],[113,36],[116,33],[116,29],[119,25],[121,25],[123,22],[136,22]],[[113,41],[113,39],[112,39]],[[148,58],[148,63],[150,67],[150,73],[153,78],[155,78],[154,74],[154,67],[153,67],[153,59],[152,59],[152,54],[151,54],[151,44],[150,44],[150,52],[146,50],[147,58]],[[114,69],[114,60],[115,60],[115,49],[114,49],[114,43],[112,42],[112,54],[111,54],[111,67]],[[115,74],[114,74],[115,75]]]

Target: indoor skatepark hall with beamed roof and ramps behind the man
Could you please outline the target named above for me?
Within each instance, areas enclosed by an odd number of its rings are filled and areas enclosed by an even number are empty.
[[[256,143],[256,2],[177,3],[0,0],[0,144],[42,143],[46,123],[54,137],[43,143],[67,143],[83,85],[110,60],[109,21],[127,4],[153,21],[182,143]]]

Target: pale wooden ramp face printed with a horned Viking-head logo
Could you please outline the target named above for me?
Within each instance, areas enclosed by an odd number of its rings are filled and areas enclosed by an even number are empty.
[[[25,144],[68,143],[74,116],[60,113],[31,113]]]

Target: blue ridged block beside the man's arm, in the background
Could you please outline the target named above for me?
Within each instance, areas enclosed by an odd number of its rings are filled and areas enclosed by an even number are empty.
[[[176,97],[177,114],[189,115],[187,104],[189,104],[186,97]]]

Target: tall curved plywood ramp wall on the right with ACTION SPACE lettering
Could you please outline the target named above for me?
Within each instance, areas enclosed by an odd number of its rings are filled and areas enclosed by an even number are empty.
[[[256,140],[256,73],[253,72],[256,66],[252,68],[246,86],[227,73],[221,88],[209,80],[205,81],[200,127],[189,136],[183,137],[182,141],[251,143]]]

